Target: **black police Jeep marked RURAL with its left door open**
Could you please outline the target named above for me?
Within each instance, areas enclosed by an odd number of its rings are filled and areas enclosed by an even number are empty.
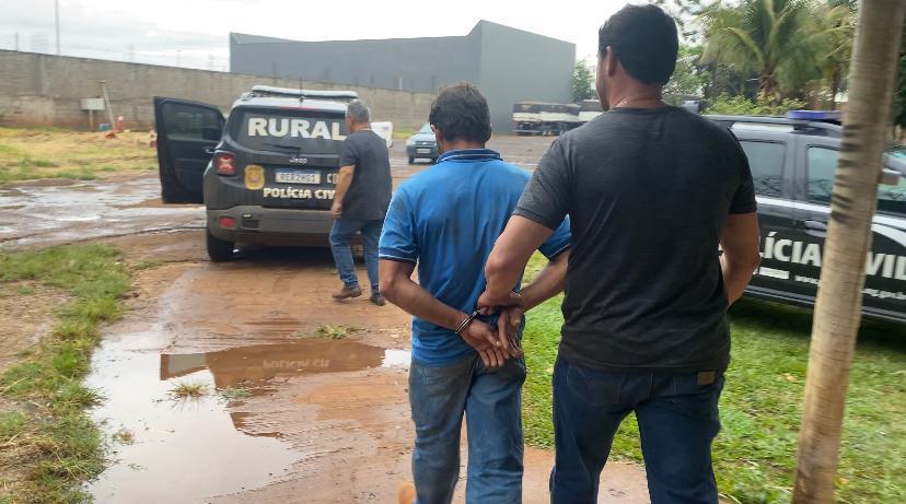
[[[213,105],[154,97],[165,203],[205,203],[208,255],[236,243],[323,242],[353,92],[255,86],[224,119]]]

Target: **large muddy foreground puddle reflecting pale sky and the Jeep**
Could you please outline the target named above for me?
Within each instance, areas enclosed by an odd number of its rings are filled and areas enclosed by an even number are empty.
[[[160,327],[121,335],[94,353],[88,385],[106,400],[93,417],[107,434],[135,438],[114,442],[116,464],[88,485],[97,503],[205,502],[280,481],[303,454],[280,432],[247,427],[253,413],[241,411],[241,400],[229,402],[224,390],[258,396],[294,376],[406,367],[409,360],[403,350],[321,339],[160,353],[154,348],[161,336]],[[169,395],[178,384],[200,384],[209,394],[173,400]]]

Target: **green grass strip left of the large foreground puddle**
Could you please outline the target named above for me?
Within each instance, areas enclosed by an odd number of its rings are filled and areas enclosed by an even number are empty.
[[[82,385],[98,325],[116,320],[129,277],[119,254],[105,246],[0,251],[0,284],[34,282],[69,293],[42,342],[0,375],[0,397],[15,411],[0,414],[0,467],[22,481],[3,489],[9,502],[83,502],[81,482],[104,468],[103,436],[85,409],[98,395]],[[1,502],[1,501],[0,501]]]

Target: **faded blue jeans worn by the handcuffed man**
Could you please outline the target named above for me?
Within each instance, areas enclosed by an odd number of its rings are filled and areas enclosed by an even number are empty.
[[[522,502],[522,383],[525,362],[485,367],[477,354],[444,366],[413,362],[409,405],[416,426],[416,502],[446,504],[460,478],[460,432],[468,436],[466,502]]]

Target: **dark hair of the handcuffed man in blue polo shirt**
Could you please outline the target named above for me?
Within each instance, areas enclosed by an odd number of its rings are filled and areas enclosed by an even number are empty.
[[[474,84],[460,82],[441,87],[431,103],[428,122],[439,129],[444,140],[485,143],[490,139],[488,101]]]

